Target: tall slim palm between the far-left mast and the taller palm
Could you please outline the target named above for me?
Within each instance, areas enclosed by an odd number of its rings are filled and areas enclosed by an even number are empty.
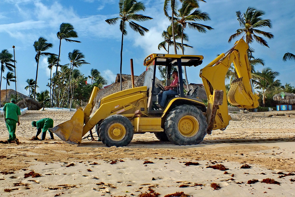
[[[34,99],[36,97],[36,86],[37,86],[37,77],[38,77],[38,66],[39,66],[39,59],[40,56],[50,56],[50,55],[54,55],[53,53],[46,53],[46,52],[42,52],[42,51],[46,51],[49,48],[53,47],[53,44],[51,43],[47,43],[47,40],[45,38],[40,37],[37,41],[34,42],[34,48],[36,51],[36,56],[35,56],[35,60],[37,62],[37,69],[36,69],[36,79],[35,79],[35,91],[34,91]]]

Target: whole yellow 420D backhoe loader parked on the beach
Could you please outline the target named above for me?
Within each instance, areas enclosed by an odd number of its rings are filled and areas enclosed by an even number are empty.
[[[155,133],[162,141],[177,145],[199,144],[212,130],[224,130],[231,120],[227,100],[240,108],[257,108],[258,96],[253,93],[248,45],[243,39],[226,53],[222,53],[200,71],[208,107],[195,94],[184,95],[182,66],[199,66],[203,56],[151,54],[144,60],[145,80],[141,87],[132,86],[99,101],[98,109],[90,117],[98,89],[95,87],[89,103],[78,109],[71,120],[50,129],[62,140],[80,144],[82,137],[96,126],[99,138],[106,146],[127,146],[134,133]],[[225,94],[225,76],[234,64],[238,78]],[[163,89],[155,83],[157,66],[166,68],[166,85],[170,84],[171,69],[179,72],[178,95],[168,97],[164,109],[157,108],[157,95]],[[134,82],[133,82],[134,84]]]

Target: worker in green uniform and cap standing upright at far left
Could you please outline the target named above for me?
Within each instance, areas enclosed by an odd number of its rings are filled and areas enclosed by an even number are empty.
[[[10,103],[6,103],[3,108],[4,121],[9,132],[8,143],[15,141],[19,144],[19,140],[15,136],[15,130],[19,126],[19,117],[20,117],[19,106],[15,105],[15,99],[10,99]]]

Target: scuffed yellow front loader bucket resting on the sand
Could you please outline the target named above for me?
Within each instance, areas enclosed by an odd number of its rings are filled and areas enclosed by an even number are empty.
[[[80,144],[84,125],[84,113],[77,109],[71,120],[61,123],[49,130],[69,144]]]

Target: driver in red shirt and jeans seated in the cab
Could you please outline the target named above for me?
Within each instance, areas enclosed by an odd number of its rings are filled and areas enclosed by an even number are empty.
[[[178,95],[178,92],[173,90],[173,88],[175,88],[175,87],[177,88],[178,72],[173,71],[171,77],[173,78],[172,83],[170,85],[168,85],[168,86],[164,86],[165,91],[160,92],[158,94],[158,103],[159,104],[156,104],[156,105],[160,109],[164,109],[165,101],[166,101],[168,95]]]

